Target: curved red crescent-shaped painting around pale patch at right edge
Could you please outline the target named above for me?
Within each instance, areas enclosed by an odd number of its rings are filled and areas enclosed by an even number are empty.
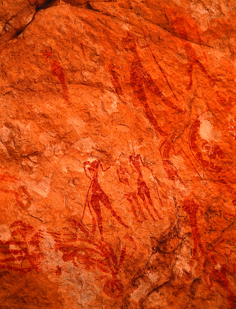
[[[224,117],[220,116],[218,111],[214,111],[213,114],[208,111],[200,114],[191,125],[189,144],[195,159],[204,169],[212,172],[214,178],[220,184],[228,188],[232,196],[232,203],[236,205],[234,181],[230,181],[230,179],[233,180],[235,177],[234,167],[231,161],[233,152],[230,152],[231,155],[228,153],[226,156],[224,150],[219,145],[219,142],[221,142],[221,139],[225,135],[224,128],[228,127],[227,121],[225,121]],[[218,126],[222,131],[214,129],[214,125]],[[230,139],[228,138],[229,141]],[[227,166],[225,162],[227,162]]]

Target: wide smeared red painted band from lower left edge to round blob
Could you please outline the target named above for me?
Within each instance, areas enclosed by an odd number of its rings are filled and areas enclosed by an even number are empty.
[[[76,236],[75,233],[56,233],[35,229],[22,221],[15,221],[11,224],[11,239],[2,241],[0,246],[0,269],[9,269],[26,273],[36,269],[45,271],[45,262],[49,256],[49,250],[62,252],[57,260],[64,262],[72,261],[78,268],[83,264],[86,270],[97,274],[96,280],[103,280],[104,293],[112,298],[122,296],[122,281],[118,279],[120,268],[125,258],[131,258],[137,249],[135,241],[131,236],[126,236],[124,241],[127,244],[121,248],[119,256],[114,252],[112,245],[100,241],[94,237]],[[83,233],[83,229],[80,229]],[[54,240],[54,248],[45,246],[46,243]],[[131,254],[127,253],[127,245],[131,244]],[[44,267],[43,267],[44,264]],[[60,276],[62,267],[58,265],[51,269]],[[99,275],[99,274],[102,274]]]

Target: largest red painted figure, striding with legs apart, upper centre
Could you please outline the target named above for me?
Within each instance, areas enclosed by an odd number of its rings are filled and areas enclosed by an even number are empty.
[[[169,108],[172,108],[182,114],[184,114],[185,112],[173,102],[171,102],[169,99],[167,99],[165,95],[163,95],[157,84],[153,81],[151,75],[142,65],[141,59],[139,58],[136,42],[136,36],[131,34],[130,32],[127,32],[127,36],[122,39],[122,43],[125,49],[130,50],[134,56],[130,69],[130,84],[133,88],[133,91],[137,95],[140,103],[143,105],[145,115],[148,121],[152,124],[156,134],[160,134],[161,136],[167,136],[168,134],[158,125],[157,120],[148,105],[148,99],[145,94],[144,87],[148,91],[152,92],[154,95],[157,95],[162,100],[162,102]]]

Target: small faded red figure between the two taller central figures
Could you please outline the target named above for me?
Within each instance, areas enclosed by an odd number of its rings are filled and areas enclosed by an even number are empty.
[[[140,211],[140,214],[142,215],[142,217],[144,218],[144,220],[147,220],[147,217],[145,216],[142,206],[139,203],[138,197],[136,195],[135,190],[133,190],[133,188],[131,187],[131,185],[129,184],[128,181],[128,175],[129,175],[129,171],[127,170],[126,167],[119,167],[117,170],[117,175],[119,178],[119,181],[122,182],[123,184],[127,184],[127,186],[132,190],[130,193],[126,193],[124,195],[125,198],[127,198],[128,202],[131,204],[131,210],[135,216],[135,219],[137,220],[137,222],[141,222],[141,220],[139,220],[136,209],[135,209],[135,203],[137,208]],[[135,202],[135,203],[134,203]]]

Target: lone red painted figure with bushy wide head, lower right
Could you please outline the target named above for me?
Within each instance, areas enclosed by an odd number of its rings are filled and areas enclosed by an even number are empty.
[[[182,205],[182,209],[186,211],[187,214],[189,214],[189,222],[191,225],[192,236],[193,236],[193,254],[192,254],[193,258],[196,257],[197,246],[199,247],[202,255],[205,256],[205,251],[201,243],[200,234],[199,234],[198,225],[197,225],[197,212],[198,212],[199,207],[200,205],[197,204],[193,198],[191,200],[189,199],[185,200]]]

